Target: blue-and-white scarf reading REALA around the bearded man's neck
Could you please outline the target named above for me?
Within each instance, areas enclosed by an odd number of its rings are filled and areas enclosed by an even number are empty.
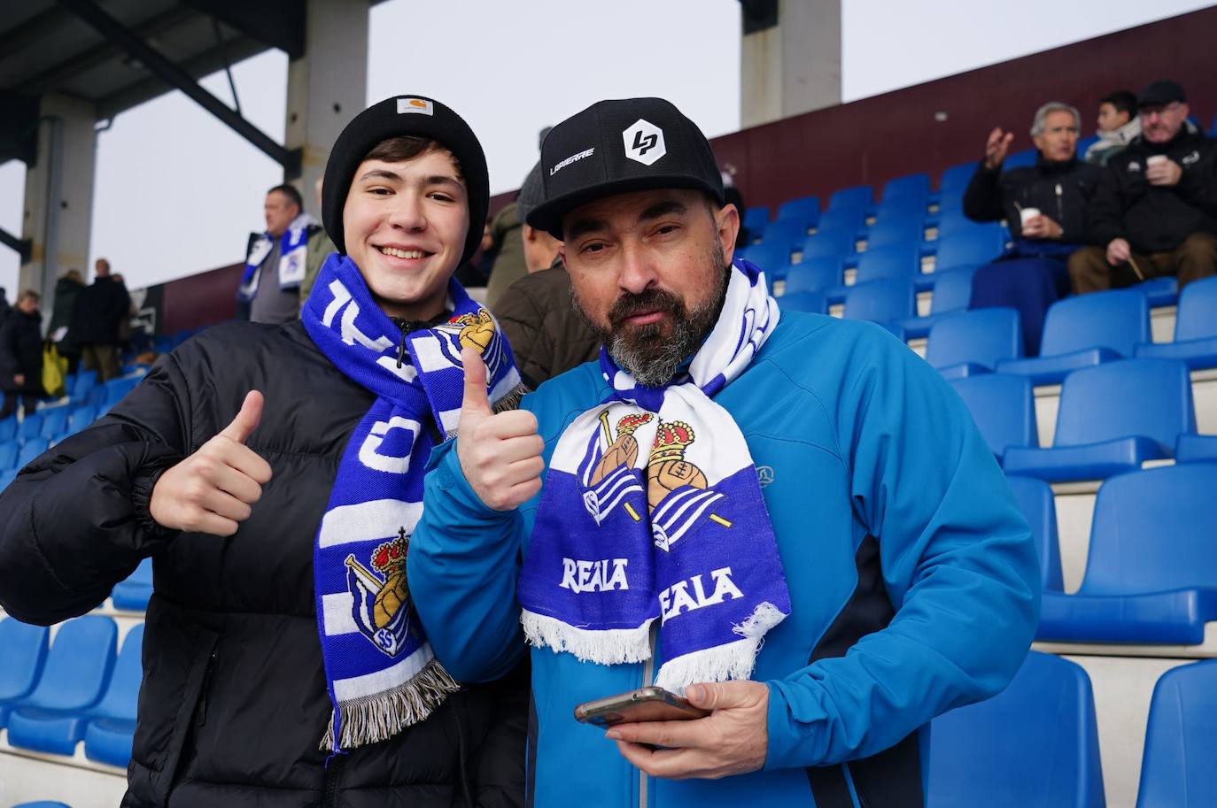
[[[713,331],[666,387],[635,385],[601,349],[612,393],[559,438],[520,574],[529,643],[641,662],[658,618],[655,684],[751,677],[790,593],[748,447],[713,397],[776,325],[764,275],[740,260]]]

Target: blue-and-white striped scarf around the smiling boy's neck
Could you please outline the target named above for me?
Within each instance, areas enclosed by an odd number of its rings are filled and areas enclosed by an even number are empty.
[[[459,425],[461,348],[482,352],[492,402],[521,391],[511,349],[489,312],[455,280],[448,293],[448,322],[403,337],[372,301],[354,262],[335,253],[302,313],[321,353],[376,394],[342,454],[313,556],[333,703],[325,750],[392,737],[459,689],[414,613],[405,556],[422,512],[427,458]]]

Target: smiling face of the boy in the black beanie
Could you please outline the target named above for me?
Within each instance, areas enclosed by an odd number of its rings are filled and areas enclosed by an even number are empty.
[[[386,314],[406,320],[442,314],[469,232],[460,167],[432,141],[394,138],[377,145],[355,169],[342,228],[347,256]]]

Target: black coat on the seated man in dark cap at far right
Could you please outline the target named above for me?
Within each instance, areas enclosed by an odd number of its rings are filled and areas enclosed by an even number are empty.
[[[1178,185],[1150,185],[1145,161],[1166,155],[1183,168]],[[1217,235],[1217,142],[1188,127],[1173,140],[1144,136],[1107,162],[1089,208],[1090,241],[1125,239],[1139,253],[1174,249],[1193,232]]]

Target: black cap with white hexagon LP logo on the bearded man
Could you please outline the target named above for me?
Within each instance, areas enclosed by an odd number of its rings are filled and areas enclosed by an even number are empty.
[[[545,135],[540,169],[544,198],[527,221],[555,239],[574,208],[628,191],[694,189],[724,202],[710,141],[663,99],[600,101],[567,118]]]

